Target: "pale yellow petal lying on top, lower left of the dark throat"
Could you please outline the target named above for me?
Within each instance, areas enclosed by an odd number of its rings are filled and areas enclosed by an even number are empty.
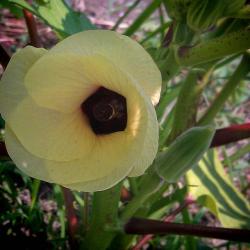
[[[95,144],[95,135],[81,110],[63,114],[39,107],[27,97],[6,121],[29,152],[48,160],[82,158]]]

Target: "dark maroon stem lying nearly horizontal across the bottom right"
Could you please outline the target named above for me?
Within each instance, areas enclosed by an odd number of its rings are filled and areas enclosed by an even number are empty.
[[[175,234],[215,238],[230,241],[250,242],[250,230],[207,227],[157,220],[131,218],[124,226],[127,234]]]

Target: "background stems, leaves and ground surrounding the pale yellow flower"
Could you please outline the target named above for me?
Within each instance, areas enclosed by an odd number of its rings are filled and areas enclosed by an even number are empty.
[[[129,235],[135,225],[131,221],[124,227],[123,222],[140,217],[250,228],[250,144],[246,139],[250,136],[249,2],[109,0],[83,4],[3,0],[0,43],[11,55],[28,43],[50,48],[87,29],[117,30],[136,39],[152,55],[163,76],[162,97],[156,107],[162,158],[158,157],[143,177],[126,179],[121,195],[120,187],[112,190],[112,197],[109,191],[71,192],[32,179],[15,167],[4,149],[1,120],[1,244],[10,248],[19,245],[20,249],[248,249],[250,245],[243,242],[246,237],[218,240],[211,232],[212,239],[197,237],[202,236],[199,234],[184,236],[181,230],[181,235],[159,236],[156,231],[153,235]],[[5,58],[1,52],[3,69]],[[176,173],[177,166],[181,172],[174,183],[159,186],[154,167],[169,163],[166,147],[171,148],[188,129],[211,123],[217,131],[210,149],[206,150],[209,144],[201,142],[192,130],[189,136],[199,145],[182,140],[171,149],[173,167],[169,164],[165,169],[168,175]],[[239,126],[232,127],[234,124]],[[224,127],[228,128],[218,130]],[[202,146],[207,153],[201,161],[192,161],[192,150],[201,150],[200,159]],[[181,155],[187,148],[187,154]],[[111,224],[105,221],[108,213],[114,215]]]

